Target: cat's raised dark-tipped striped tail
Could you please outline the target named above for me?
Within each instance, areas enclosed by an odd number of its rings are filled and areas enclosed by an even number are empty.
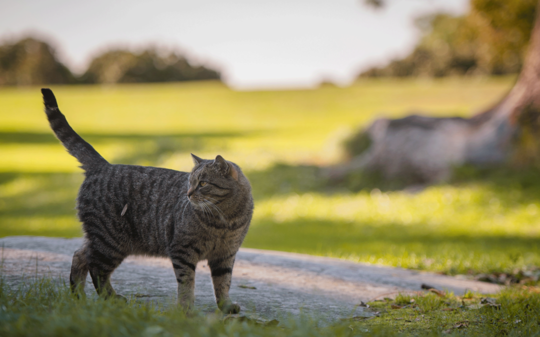
[[[108,162],[84,139],[82,139],[69,125],[65,116],[58,109],[55,94],[50,89],[43,88],[43,104],[45,104],[45,113],[49,119],[51,129],[56,137],[62,142],[68,152],[82,164],[82,168],[88,171],[92,168],[98,168]]]

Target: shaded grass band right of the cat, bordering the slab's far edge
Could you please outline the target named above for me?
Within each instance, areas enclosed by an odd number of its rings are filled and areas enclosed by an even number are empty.
[[[244,247],[330,255],[449,274],[508,272],[540,265],[538,238],[471,234],[409,225],[297,218],[253,223]],[[381,259],[381,260],[379,260]]]

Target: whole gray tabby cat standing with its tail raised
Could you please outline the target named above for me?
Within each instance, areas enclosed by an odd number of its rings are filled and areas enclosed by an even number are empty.
[[[229,299],[236,253],[253,214],[251,185],[221,156],[192,155],[191,173],[112,165],[69,126],[55,95],[42,89],[50,126],[85,171],[77,209],[85,240],[73,255],[70,284],[82,291],[87,273],[99,294],[120,297],[110,276],[129,255],[168,257],[178,281],[178,303],[192,307],[195,266],[207,259],[218,307],[238,313]]]

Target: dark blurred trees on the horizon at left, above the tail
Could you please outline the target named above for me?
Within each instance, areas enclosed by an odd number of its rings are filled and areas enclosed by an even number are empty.
[[[52,46],[35,38],[0,45],[0,86],[168,82],[220,79],[220,73],[193,66],[177,53],[147,49],[111,50],[95,57],[77,77],[57,58]]]

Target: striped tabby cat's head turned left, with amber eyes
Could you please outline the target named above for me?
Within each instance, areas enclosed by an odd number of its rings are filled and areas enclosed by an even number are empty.
[[[237,164],[220,155],[214,160],[191,156],[195,166],[190,173],[187,196],[195,208],[225,216],[242,207],[246,197],[251,200],[251,185]]]

